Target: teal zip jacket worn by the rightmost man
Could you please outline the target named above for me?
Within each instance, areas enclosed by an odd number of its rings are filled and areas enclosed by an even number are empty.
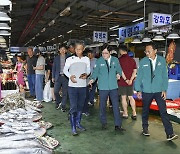
[[[157,55],[154,78],[151,80],[151,66],[148,57],[139,63],[135,90],[145,93],[156,93],[166,91],[168,88],[168,74],[165,58]]]

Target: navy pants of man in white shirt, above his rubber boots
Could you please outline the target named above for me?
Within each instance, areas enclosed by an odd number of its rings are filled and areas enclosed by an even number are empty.
[[[70,114],[83,110],[86,99],[86,87],[68,87]]]

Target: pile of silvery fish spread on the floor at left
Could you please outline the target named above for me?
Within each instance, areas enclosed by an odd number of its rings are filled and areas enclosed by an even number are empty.
[[[41,110],[15,93],[7,95],[0,109],[0,153],[51,154],[59,142],[46,134],[52,124],[40,121]],[[4,142],[6,141],[6,142]]]

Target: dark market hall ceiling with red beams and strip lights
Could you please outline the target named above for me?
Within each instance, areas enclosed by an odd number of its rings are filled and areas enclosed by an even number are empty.
[[[144,3],[137,0],[12,0],[12,3],[11,46],[43,42],[50,45],[69,39],[90,41],[93,31],[117,34],[117,30],[109,28],[131,25],[144,16]],[[145,6],[148,19],[151,12],[179,12],[180,0],[146,0]],[[173,18],[178,19],[179,15]],[[175,28],[180,29],[179,25]]]

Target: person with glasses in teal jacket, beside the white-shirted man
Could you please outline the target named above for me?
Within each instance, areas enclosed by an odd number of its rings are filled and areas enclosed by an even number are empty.
[[[119,111],[117,78],[120,79],[120,76],[123,73],[118,59],[110,55],[111,50],[112,48],[108,46],[108,44],[104,44],[102,57],[96,61],[89,84],[92,85],[92,83],[98,79],[98,89],[100,96],[100,121],[102,123],[102,129],[107,128],[106,104],[108,96],[110,96],[113,104],[115,130],[122,132],[125,129],[123,129],[121,126],[122,120]]]

